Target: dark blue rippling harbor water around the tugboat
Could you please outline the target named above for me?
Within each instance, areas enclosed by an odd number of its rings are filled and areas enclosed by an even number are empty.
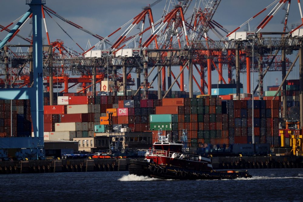
[[[302,201],[303,169],[250,179],[158,180],[128,172],[0,175],[0,201]]]

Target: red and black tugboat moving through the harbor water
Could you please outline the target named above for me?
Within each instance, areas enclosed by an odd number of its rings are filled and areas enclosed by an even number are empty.
[[[158,135],[153,149],[147,150],[145,159],[129,161],[129,174],[158,179],[177,180],[221,180],[251,177],[247,170],[215,171],[211,159],[202,155],[191,155],[182,151],[183,143],[172,143],[169,135]]]

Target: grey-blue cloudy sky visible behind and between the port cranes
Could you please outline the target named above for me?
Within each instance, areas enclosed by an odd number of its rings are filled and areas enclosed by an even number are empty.
[[[144,1],[144,0],[46,0],[46,5],[57,12],[59,15],[62,15],[65,19],[68,19],[76,24],[88,29],[89,31],[101,35],[103,37],[108,36],[113,31],[118,29],[120,26],[128,22],[130,19],[138,15],[144,6],[152,4],[154,1]],[[161,18],[166,0],[159,2],[157,5],[152,7],[154,21],[157,21]],[[223,25],[229,31],[234,30],[239,25],[241,25],[246,20],[250,19],[252,16],[257,14],[267,5],[269,5],[273,0],[222,0],[213,19]],[[1,1],[1,18],[0,24],[3,26],[8,25],[10,22],[14,21],[21,15],[23,15],[29,8],[25,4],[25,0],[10,0],[10,1]],[[190,8],[194,6],[195,1],[192,2]],[[273,8],[273,7],[271,7]],[[170,7],[171,9],[171,7]],[[261,20],[268,14],[271,9],[266,10],[260,15],[260,17],[252,20],[250,22],[250,28],[254,29]],[[188,14],[191,14],[189,12]],[[283,24],[281,21],[285,18],[285,10],[280,10],[270,22],[264,31],[282,31]],[[88,40],[90,40],[92,45],[95,45],[98,42],[98,39],[95,39],[91,35],[88,35],[85,32],[82,32],[71,25],[66,24],[60,19],[54,17],[51,19],[46,14],[46,22],[48,26],[48,32],[51,41],[56,39],[61,39],[64,41],[65,46],[73,47],[73,49],[79,50],[79,48],[72,42],[71,39],[56,25],[55,21],[62,26],[63,29],[80,45],[85,49]],[[291,24],[301,24],[298,3],[297,1],[292,1],[290,14],[288,19],[288,27],[291,29]],[[12,28],[12,26],[10,27]],[[244,26],[245,28],[245,26]],[[242,29],[243,30],[243,29]],[[31,31],[31,25],[27,24],[19,32],[20,35],[28,37]],[[240,30],[241,31],[241,30]],[[43,28],[43,33],[45,32]],[[0,33],[0,39],[2,40],[7,32]],[[45,35],[45,34],[44,34]],[[116,37],[112,38],[111,41],[115,42]],[[218,40],[218,39],[214,39]],[[46,42],[46,41],[45,41]],[[27,42],[22,39],[16,38],[11,41],[11,44],[27,44]],[[88,48],[86,48],[88,49]],[[295,56],[287,56],[294,60]],[[298,79],[297,68],[289,76],[289,79]],[[226,71],[227,72],[227,71]],[[224,77],[227,80],[227,73],[224,73]],[[197,72],[194,73],[197,75]],[[213,72],[213,83],[216,83],[217,74]],[[242,76],[242,75],[241,75]],[[135,75],[133,75],[135,77]],[[185,77],[186,78],[186,77]],[[257,78],[257,75],[255,75]],[[275,85],[275,80],[278,78],[281,82],[280,73],[272,73],[265,76],[264,83],[265,85]],[[242,77],[241,77],[242,82]],[[194,84],[195,86],[195,84]],[[177,88],[174,89],[176,90]],[[197,87],[194,87],[197,90]],[[246,92],[246,90],[244,90]]]

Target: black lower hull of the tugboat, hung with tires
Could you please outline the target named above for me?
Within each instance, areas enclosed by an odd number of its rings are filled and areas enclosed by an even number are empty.
[[[197,171],[182,169],[179,167],[157,165],[146,161],[130,160],[128,165],[129,174],[138,176],[155,177],[159,179],[176,180],[222,180],[236,179],[240,177],[251,177],[247,171],[237,170],[234,172],[225,171]]]

